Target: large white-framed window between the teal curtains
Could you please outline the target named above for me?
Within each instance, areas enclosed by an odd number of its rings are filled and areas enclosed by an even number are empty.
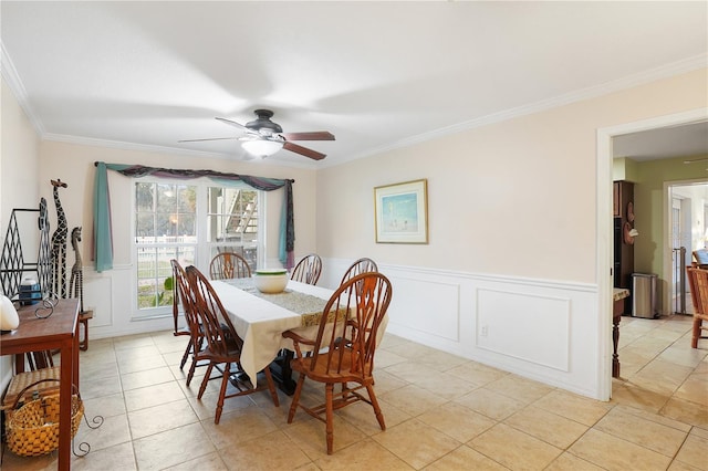
[[[218,252],[235,251],[256,269],[261,245],[259,191],[174,180],[135,184],[136,307],[165,314],[173,304],[171,265],[208,271]],[[158,308],[158,311],[155,311]]]

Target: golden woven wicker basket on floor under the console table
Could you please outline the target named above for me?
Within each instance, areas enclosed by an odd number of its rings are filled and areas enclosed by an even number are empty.
[[[43,381],[51,381],[44,379]],[[39,383],[39,381],[38,381]],[[30,385],[29,387],[34,386]],[[79,431],[81,419],[84,416],[84,404],[74,386],[75,393],[71,398],[71,437]],[[22,394],[19,395],[19,399]],[[17,408],[7,422],[7,443],[10,451],[20,457],[39,457],[51,453],[59,448],[59,410],[60,395],[48,394],[32,399]]]

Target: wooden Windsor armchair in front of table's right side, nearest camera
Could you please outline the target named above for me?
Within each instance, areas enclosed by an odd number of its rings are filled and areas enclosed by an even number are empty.
[[[322,311],[314,341],[293,331],[283,333],[295,348],[292,369],[300,374],[292,398],[288,423],[292,423],[298,407],[326,425],[327,454],[334,443],[334,410],[357,401],[373,407],[382,430],[384,415],[374,393],[374,354],[383,332],[378,332],[391,303],[392,287],[386,276],[377,272],[356,275],[342,284]],[[304,355],[303,355],[304,354]],[[305,378],[323,383],[325,402],[306,407],[300,404]],[[350,383],[354,384],[350,387]],[[341,385],[340,393],[334,385]],[[366,395],[358,393],[366,389]],[[323,417],[324,415],[324,417]]]

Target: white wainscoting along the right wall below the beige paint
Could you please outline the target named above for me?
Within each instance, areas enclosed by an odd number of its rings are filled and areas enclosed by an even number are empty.
[[[320,284],[335,287],[335,273],[352,261],[323,260],[330,276]],[[603,397],[598,378],[611,362],[612,333],[598,337],[596,285],[382,263],[378,269],[394,290],[388,333]]]

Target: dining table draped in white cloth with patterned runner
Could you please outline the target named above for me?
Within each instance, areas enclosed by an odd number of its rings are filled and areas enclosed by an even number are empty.
[[[289,280],[281,293],[261,293],[250,278],[214,280],[211,285],[243,341],[240,359],[243,373],[256,386],[258,373],[270,367],[279,388],[292,395],[293,344],[282,333],[293,331],[314,339],[334,290]]]

